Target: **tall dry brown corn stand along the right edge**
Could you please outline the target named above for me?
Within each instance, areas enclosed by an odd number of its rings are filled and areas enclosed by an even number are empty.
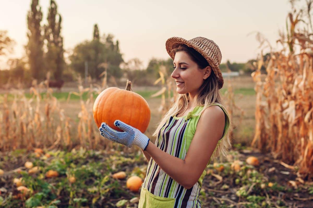
[[[310,11],[308,12],[310,13]],[[260,58],[256,82],[255,136],[252,145],[313,176],[313,39],[312,26],[302,29],[303,11],[289,13],[283,49]],[[309,15],[310,17],[310,15]],[[300,23],[302,26],[300,27]],[[305,28],[305,27],[304,27]],[[311,30],[311,32],[309,32]],[[261,67],[266,78],[261,79]]]

